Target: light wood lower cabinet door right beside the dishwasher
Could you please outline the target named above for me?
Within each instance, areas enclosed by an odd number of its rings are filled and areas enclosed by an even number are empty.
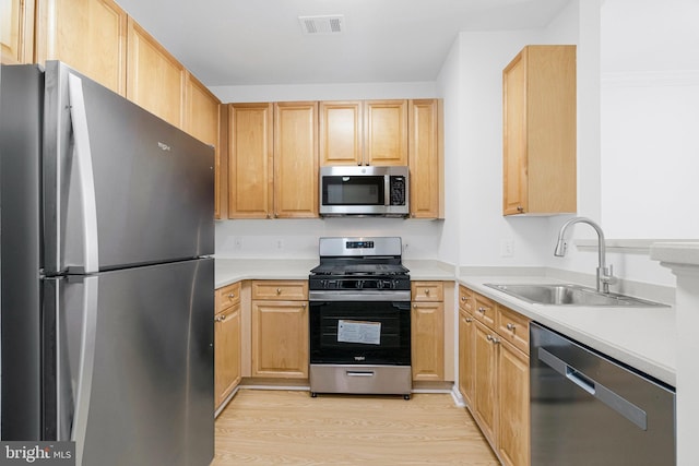
[[[529,357],[507,342],[498,356],[498,450],[506,465],[530,463]]]

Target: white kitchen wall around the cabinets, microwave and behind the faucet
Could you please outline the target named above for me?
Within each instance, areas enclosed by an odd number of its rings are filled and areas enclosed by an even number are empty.
[[[461,33],[435,83],[213,88],[224,101],[445,99],[445,220],[221,220],[216,223],[217,255],[310,259],[317,256],[321,236],[394,235],[407,244],[406,259],[439,259],[455,265],[547,265],[593,274],[595,250],[570,248],[566,258],[553,255],[558,229],[569,216],[501,215],[501,70],[528,44],[578,45],[578,214],[605,228],[614,212],[607,208],[602,215],[607,200],[602,199],[606,191],[601,176],[601,3],[573,0],[543,29]],[[572,237],[590,239],[595,235],[591,228],[578,226]],[[501,250],[508,241],[513,254],[503,256]],[[608,262],[623,278],[670,286],[675,283],[674,276],[647,254],[609,251]]]

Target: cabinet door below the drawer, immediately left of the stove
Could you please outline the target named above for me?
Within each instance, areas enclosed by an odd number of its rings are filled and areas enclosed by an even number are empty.
[[[308,378],[306,301],[252,301],[252,377]]]

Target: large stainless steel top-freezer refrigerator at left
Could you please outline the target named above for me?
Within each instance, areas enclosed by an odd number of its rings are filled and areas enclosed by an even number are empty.
[[[1,76],[0,438],[210,464],[213,148],[63,63]]]

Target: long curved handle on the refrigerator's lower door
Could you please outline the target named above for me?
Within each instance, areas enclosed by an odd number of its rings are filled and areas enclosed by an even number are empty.
[[[87,417],[90,414],[90,396],[95,368],[95,343],[97,333],[97,295],[99,277],[83,278],[83,327],[80,342],[80,360],[78,366],[78,386],[75,396],[75,413],[71,428],[71,440],[75,442],[76,464],[82,464],[85,434],[87,432]]]

